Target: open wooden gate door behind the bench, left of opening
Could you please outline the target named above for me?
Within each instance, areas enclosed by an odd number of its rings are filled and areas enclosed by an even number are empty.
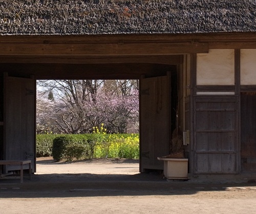
[[[4,160],[31,160],[35,172],[35,80],[4,78]],[[28,166],[24,166],[26,169]],[[5,172],[18,170],[8,165]]]

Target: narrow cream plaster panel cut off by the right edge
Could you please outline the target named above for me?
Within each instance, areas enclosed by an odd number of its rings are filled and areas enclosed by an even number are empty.
[[[241,84],[256,84],[256,49],[241,49]]]

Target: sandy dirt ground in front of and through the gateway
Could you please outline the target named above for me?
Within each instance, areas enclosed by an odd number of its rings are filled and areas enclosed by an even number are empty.
[[[0,180],[0,213],[256,213],[253,181],[168,181],[138,167],[137,160],[38,158],[32,180]]]

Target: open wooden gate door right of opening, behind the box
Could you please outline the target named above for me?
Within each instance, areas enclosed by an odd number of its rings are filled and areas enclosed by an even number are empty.
[[[163,169],[169,154],[170,76],[140,80],[140,172]]]

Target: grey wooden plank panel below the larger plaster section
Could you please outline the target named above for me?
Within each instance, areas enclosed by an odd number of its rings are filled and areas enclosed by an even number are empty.
[[[195,173],[237,173],[237,97],[195,97]]]

